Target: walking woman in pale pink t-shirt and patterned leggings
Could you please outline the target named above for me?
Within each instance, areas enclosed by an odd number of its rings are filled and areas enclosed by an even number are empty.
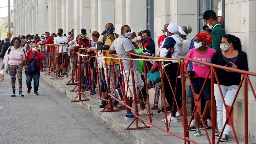
[[[19,47],[20,39],[17,37],[14,37],[12,39],[12,45],[13,46],[10,48],[10,51],[7,50],[5,53],[2,69],[4,68],[6,55],[9,51],[10,53],[9,53],[9,60],[8,60],[8,69],[10,71],[12,90],[13,90],[12,91],[13,94],[11,95],[11,97],[16,97],[15,95],[16,73],[17,73],[17,78],[19,82],[19,96],[24,97],[24,95],[22,94],[22,67],[23,67],[22,62],[24,62],[25,64],[26,71],[28,71],[28,66],[26,63],[24,51],[21,47]]]

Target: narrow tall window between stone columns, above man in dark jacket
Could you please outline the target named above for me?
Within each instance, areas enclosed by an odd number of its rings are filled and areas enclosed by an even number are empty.
[[[151,32],[151,38],[154,39],[154,2],[147,0],[147,29]]]

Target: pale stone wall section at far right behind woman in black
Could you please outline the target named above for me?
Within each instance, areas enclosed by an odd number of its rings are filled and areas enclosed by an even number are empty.
[[[225,31],[226,34],[232,34],[240,38],[243,48],[248,58],[249,71],[256,71],[256,49],[255,49],[255,13],[256,1],[226,1],[225,2]],[[252,86],[256,85],[256,78],[250,77]],[[234,107],[234,126],[238,136],[244,136],[244,85],[240,90],[240,97]],[[256,136],[255,113],[256,109],[255,99],[252,90],[248,86],[248,134],[249,137]]]

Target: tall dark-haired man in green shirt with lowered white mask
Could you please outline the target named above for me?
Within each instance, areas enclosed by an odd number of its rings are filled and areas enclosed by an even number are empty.
[[[206,10],[203,19],[207,23],[207,26],[212,29],[212,41],[209,47],[220,51],[221,38],[225,35],[225,31],[221,27],[221,23],[218,23],[216,13],[213,10]]]

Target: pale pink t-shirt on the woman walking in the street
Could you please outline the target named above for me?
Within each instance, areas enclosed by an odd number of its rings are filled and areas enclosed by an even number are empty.
[[[5,54],[8,53],[8,50],[6,51]],[[4,60],[3,63],[5,62],[5,56],[4,56]],[[17,66],[20,65],[22,63],[22,61],[25,61],[25,55],[24,55],[24,51],[21,47],[19,47],[18,49],[15,49],[13,46],[11,48],[10,51],[10,55],[9,55],[9,61],[8,64],[9,65],[13,65],[13,66]]]

